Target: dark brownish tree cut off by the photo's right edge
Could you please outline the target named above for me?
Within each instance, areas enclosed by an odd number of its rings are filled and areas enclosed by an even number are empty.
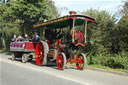
[[[116,31],[118,35],[118,42],[120,51],[128,51],[128,1],[123,2],[124,5],[120,10],[121,17],[120,21],[116,25]]]

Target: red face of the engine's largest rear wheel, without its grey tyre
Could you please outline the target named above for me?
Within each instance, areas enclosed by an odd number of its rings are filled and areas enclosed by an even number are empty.
[[[36,59],[37,65],[39,66],[42,65],[44,60],[44,47],[41,42],[39,42],[36,46],[35,59]]]

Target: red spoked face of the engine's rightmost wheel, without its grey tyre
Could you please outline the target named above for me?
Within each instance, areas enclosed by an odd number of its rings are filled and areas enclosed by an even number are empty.
[[[76,66],[78,69],[82,70],[84,67],[84,57],[82,55],[78,55],[76,58]]]

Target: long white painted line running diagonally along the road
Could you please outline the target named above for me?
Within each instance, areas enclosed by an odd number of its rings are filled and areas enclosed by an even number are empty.
[[[82,81],[78,81],[78,80],[75,80],[75,79],[71,79],[71,78],[65,77],[63,75],[56,75],[56,74],[53,74],[52,72],[49,72],[49,71],[46,71],[46,70],[33,68],[33,67],[30,67],[30,66],[27,66],[27,65],[23,65],[22,63],[16,63],[15,61],[9,61],[9,60],[5,60],[5,59],[2,59],[2,58],[0,59],[0,61],[6,62],[6,63],[10,63],[10,64],[14,64],[14,65],[18,65],[18,66],[21,66],[21,67],[25,67],[25,68],[28,68],[28,69],[31,69],[31,70],[34,70],[34,71],[45,72],[47,74],[56,76],[58,78],[70,80],[70,81],[73,81],[73,82],[76,82],[76,83],[80,83],[80,84],[83,84],[83,85],[90,85],[88,83],[85,83],[85,82],[82,82]]]

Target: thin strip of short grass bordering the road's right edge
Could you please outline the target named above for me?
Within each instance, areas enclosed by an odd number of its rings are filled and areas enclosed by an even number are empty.
[[[128,70],[125,69],[113,69],[107,66],[102,66],[102,65],[87,65],[88,67],[94,67],[94,68],[101,68],[101,69],[105,69],[105,70],[109,70],[109,71],[118,71],[118,72],[124,72],[124,73],[128,73]]]

